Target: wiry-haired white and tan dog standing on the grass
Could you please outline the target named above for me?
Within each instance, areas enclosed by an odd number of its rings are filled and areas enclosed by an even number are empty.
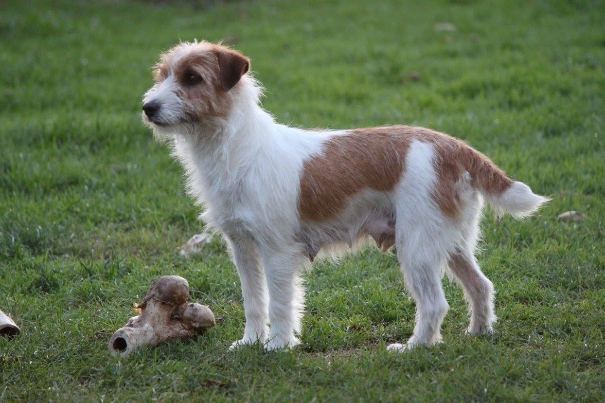
[[[441,279],[468,300],[470,335],[491,333],[494,286],[474,252],[483,201],[517,218],[549,199],[446,134],[411,126],[306,131],[260,105],[250,60],[211,42],[162,54],[142,117],[183,165],[200,218],[223,234],[241,280],[246,325],[230,348],[299,344],[302,270],[371,239],[391,247],[416,302],[413,334],[388,350],[441,341]]]

